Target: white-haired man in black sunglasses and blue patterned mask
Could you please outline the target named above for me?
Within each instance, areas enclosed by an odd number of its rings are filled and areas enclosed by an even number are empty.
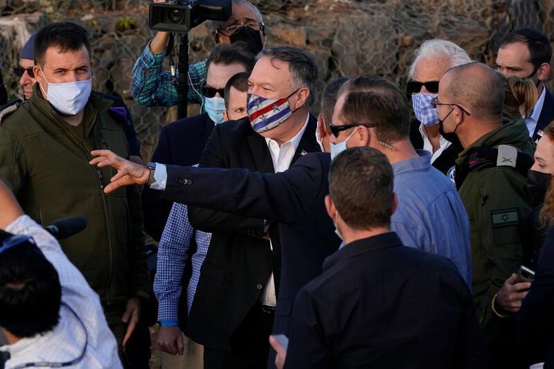
[[[416,149],[431,152],[431,164],[454,182],[454,160],[463,150],[456,135],[440,130],[431,99],[438,93],[438,81],[452,66],[472,62],[463,48],[444,39],[428,39],[413,53],[406,90],[411,93],[415,118],[410,140]]]

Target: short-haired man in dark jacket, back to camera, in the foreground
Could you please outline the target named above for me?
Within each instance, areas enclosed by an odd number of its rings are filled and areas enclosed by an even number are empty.
[[[404,247],[391,231],[399,200],[387,157],[341,152],[329,190],[325,208],[343,246],[298,293],[288,349],[271,337],[278,368],[485,368],[483,332],[454,264]]]

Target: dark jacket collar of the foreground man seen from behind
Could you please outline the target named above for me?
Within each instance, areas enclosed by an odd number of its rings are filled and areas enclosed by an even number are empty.
[[[323,262],[323,270],[330,269],[341,260],[394,246],[402,246],[402,241],[394,232],[382,233],[373,237],[350,242],[325,259]]]

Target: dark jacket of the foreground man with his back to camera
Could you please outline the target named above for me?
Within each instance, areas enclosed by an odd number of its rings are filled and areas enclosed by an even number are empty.
[[[452,262],[396,233],[347,244],[294,302],[285,368],[486,368],[472,294]]]

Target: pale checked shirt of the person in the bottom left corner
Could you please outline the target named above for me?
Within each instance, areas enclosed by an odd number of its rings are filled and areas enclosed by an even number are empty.
[[[73,361],[80,357],[85,345],[84,357],[71,368],[122,368],[116,339],[106,323],[98,294],[67,259],[55,238],[27,215],[17,218],[6,231],[33,237],[56,269],[62,286],[60,321],[50,332],[2,346],[1,351],[10,352],[6,368],[26,363]]]

